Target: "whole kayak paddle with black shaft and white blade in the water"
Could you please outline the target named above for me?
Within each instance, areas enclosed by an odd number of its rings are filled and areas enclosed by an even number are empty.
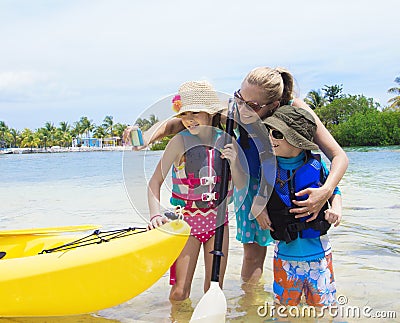
[[[228,116],[226,120],[225,144],[231,142],[233,136],[233,119],[235,106],[233,99],[229,99]],[[219,272],[221,266],[222,242],[224,238],[224,222],[227,210],[226,197],[228,195],[229,184],[229,164],[226,159],[222,160],[222,173],[221,173],[221,186],[218,198],[217,210],[217,228],[215,230],[213,265],[211,272],[211,286],[210,289],[203,295],[196,308],[194,309],[190,322],[225,322],[225,315],[227,311],[226,298],[221,288],[219,287]]]

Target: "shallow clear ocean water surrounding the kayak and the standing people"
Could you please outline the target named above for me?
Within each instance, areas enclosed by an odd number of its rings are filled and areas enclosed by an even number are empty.
[[[231,216],[224,283],[227,322],[400,321],[400,147],[353,148],[347,154],[350,165],[340,184],[343,220],[329,232],[341,312],[329,319],[260,315],[260,308],[273,299],[272,248],[260,284],[242,284],[242,246],[234,238]],[[100,224],[105,229],[144,226],[146,183],[160,155],[150,151],[0,155],[0,230],[79,224]],[[162,203],[168,208],[164,195]],[[200,256],[191,298],[183,303],[168,301],[165,274],[141,295],[93,315],[0,319],[0,323],[187,322],[203,294],[203,275]],[[377,318],[393,315],[397,318]]]

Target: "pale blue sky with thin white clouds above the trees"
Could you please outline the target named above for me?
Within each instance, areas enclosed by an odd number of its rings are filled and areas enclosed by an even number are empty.
[[[0,0],[0,121],[133,124],[185,81],[233,93],[257,66],[287,68],[301,98],[338,84],[386,106],[399,12],[398,0]]]

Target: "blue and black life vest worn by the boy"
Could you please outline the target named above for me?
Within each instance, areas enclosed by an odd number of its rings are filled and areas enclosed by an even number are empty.
[[[327,233],[330,224],[325,220],[325,210],[329,208],[325,203],[315,220],[305,222],[312,216],[296,219],[295,214],[289,212],[297,207],[292,200],[306,200],[308,195],[296,197],[295,193],[305,188],[318,188],[324,181],[324,173],[319,155],[308,154],[305,164],[293,171],[290,176],[288,170],[277,167],[277,176],[272,195],[268,201],[268,215],[272,222],[271,236],[275,240],[289,243],[298,237],[303,239],[317,238]]]

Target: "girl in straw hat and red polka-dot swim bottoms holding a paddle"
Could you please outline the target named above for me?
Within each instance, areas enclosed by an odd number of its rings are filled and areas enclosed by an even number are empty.
[[[173,99],[173,107],[184,125],[184,131],[177,134],[168,144],[149,181],[148,203],[150,210],[149,229],[165,223],[167,218],[160,213],[160,188],[172,167],[172,198],[191,226],[191,236],[175,262],[176,281],[170,292],[171,300],[184,300],[190,295],[191,283],[201,245],[204,250],[205,282],[204,291],[210,287],[216,229],[217,201],[221,170],[221,158],[231,164],[232,180],[239,187],[244,186],[240,163],[237,163],[237,149],[234,143],[224,147],[223,131],[216,128],[220,103],[212,86],[205,82],[187,82],[179,88],[179,95]],[[224,225],[227,225],[227,215]],[[228,253],[228,230],[224,230],[221,259],[220,286],[225,274]]]

